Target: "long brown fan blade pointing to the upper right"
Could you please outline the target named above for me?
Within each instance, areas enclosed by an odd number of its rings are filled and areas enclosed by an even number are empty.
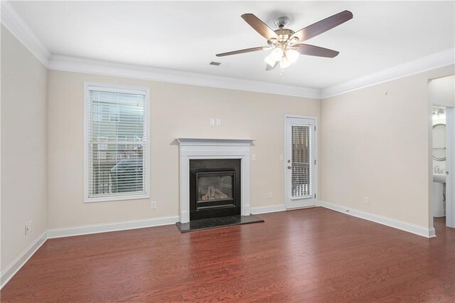
[[[299,41],[306,41],[313,37],[320,35],[328,31],[331,28],[339,26],[341,23],[345,23],[346,21],[353,18],[353,13],[350,11],[342,11],[341,13],[335,14],[328,18],[325,18],[321,21],[311,24],[311,26],[306,26],[306,28],[302,28],[300,31],[297,31],[292,35],[290,38],[299,38]]]

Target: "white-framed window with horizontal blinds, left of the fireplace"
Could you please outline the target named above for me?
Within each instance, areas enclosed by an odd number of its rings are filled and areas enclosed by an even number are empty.
[[[84,89],[84,201],[149,198],[149,88]]]

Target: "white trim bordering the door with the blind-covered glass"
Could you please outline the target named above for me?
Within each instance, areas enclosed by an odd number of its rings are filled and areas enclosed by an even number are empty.
[[[292,119],[292,118],[296,118],[296,119],[310,119],[310,120],[313,120],[313,123],[314,123],[314,127],[316,127],[316,129],[314,130],[314,161],[316,161],[316,165],[314,165],[314,194],[316,194],[316,198],[311,198],[311,199],[314,199],[314,206],[319,206],[319,201],[318,201],[318,188],[319,188],[319,177],[318,177],[318,167],[319,167],[319,159],[318,159],[318,155],[319,155],[319,151],[318,151],[318,129],[319,129],[319,124],[318,124],[318,117],[316,116],[300,116],[300,115],[284,115],[284,158],[283,158],[283,169],[284,169],[284,205],[287,207],[287,201],[289,201],[289,191],[288,191],[288,180],[287,180],[287,161],[286,161],[286,157],[288,155],[288,144],[287,144],[287,140],[288,140],[288,133],[289,133],[289,129],[288,129],[288,126],[287,126],[287,119]],[[311,205],[313,206],[313,205]],[[311,206],[302,206],[302,207],[311,207]],[[289,208],[289,209],[292,209],[292,208]]]

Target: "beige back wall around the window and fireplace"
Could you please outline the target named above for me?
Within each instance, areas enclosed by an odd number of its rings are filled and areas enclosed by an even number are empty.
[[[284,115],[319,117],[319,100],[49,71],[49,228],[178,216],[177,137],[255,139],[251,206],[284,203]],[[151,198],[82,203],[83,82],[151,88]],[[210,117],[221,126],[210,126]],[[273,198],[268,199],[271,191]],[[157,201],[151,210],[149,201]]]

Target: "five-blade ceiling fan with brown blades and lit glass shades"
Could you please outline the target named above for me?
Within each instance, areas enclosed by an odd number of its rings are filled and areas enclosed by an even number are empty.
[[[216,56],[223,57],[225,55],[237,55],[239,53],[273,49],[272,53],[265,58],[265,62],[267,63],[266,70],[272,70],[278,65],[277,63],[279,63],[280,68],[287,68],[289,65],[296,62],[300,54],[316,55],[327,58],[336,57],[339,53],[336,50],[311,46],[309,44],[304,44],[303,42],[350,20],[353,18],[353,14],[350,11],[341,11],[341,13],[313,23],[311,26],[306,26],[296,32],[285,28],[289,23],[289,18],[286,16],[274,20],[275,25],[278,27],[275,31],[253,14],[243,14],[242,18],[250,24],[255,31],[267,39],[269,46],[258,46],[256,48],[234,50],[228,53],[218,53]]]

